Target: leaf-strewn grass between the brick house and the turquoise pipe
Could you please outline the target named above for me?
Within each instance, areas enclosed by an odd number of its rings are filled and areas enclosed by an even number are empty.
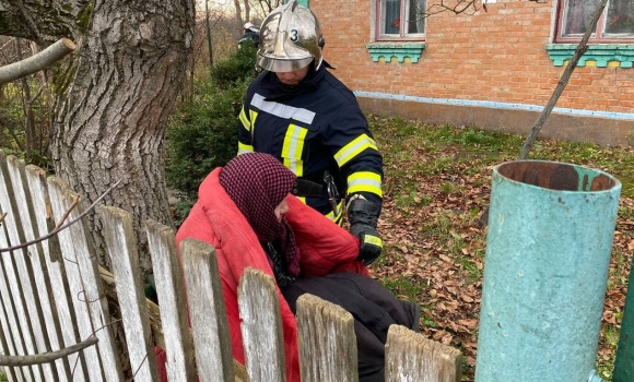
[[[493,166],[515,160],[525,136],[367,116],[384,155],[385,249],[373,274],[422,306],[424,335],[459,348],[472,381]],[[529,159],[603,170],[622,182],[596,369],[611,381],[634,244],[634,155],[630,146],[538,139]],[[484,224],[483,224],[484,223]]]

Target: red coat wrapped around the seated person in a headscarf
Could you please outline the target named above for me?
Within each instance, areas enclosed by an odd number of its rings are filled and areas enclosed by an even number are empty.
[[[198,202],[176,234],[177,248],[181,240],[193,238],[215,248],[219,272],[231,330],[233,357],[245,363],[237,286],[245,267],[250,266],[273,276],[256,234],[219,182],[221,169],[213,170],[201,183]],[[324,276],[334,272],[369,275],[356,261],[359,239],[321,214],[290,195],[286,199],[289,220],[300,249],[302,276]],[[286,379],[300,381],[297,327],[295,317],[278,288],[284,332]]]

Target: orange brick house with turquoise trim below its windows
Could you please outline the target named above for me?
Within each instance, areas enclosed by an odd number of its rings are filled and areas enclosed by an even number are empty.
[[[321,23],[325,59],[366,112],[528,133],[596,9],[562,1],[489,0],[484,11],[478,0],[473,14],[428,17],[416,9],[441,0],[308,7]],[[589,46],[541,135],[634,144],[633,0],[609,1]]]

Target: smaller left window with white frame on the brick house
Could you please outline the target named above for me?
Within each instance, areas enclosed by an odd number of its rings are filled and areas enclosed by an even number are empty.
[[[424,39],[425,0],[377,0],[377,40]]]

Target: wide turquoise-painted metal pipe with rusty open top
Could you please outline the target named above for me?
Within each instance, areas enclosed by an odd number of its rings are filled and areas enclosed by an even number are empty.
[[[621,182],[582,166],[493,169],[476,382],[600,382],[594,367]]]

